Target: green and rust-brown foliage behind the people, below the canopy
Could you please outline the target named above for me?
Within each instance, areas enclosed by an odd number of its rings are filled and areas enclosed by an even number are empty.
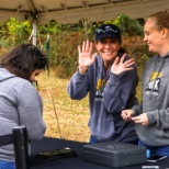
[[[119,14],[113,21],[102,22],[91,22],[89,19],[81,19],[79,23],[59,24],[53,20],[47,24],[37,25],[37,46],[45,48],[46,37],[47,35],[50,36],[50,48],[47,55],[49,57],[49,66],[56,70],[56,76],[65,78],[74,74],[78,65],[77,46],[87,38],[93,41],[95,29],[102,23],[117,25],[121,29],[123,37],[125,37],[124,45],[131,54],[134,56],[140,54],[143,55],[140,58],[145,60],[148,58],[148,54],[143,49],[145,45],[140,44],[140,41],[136,38],[143,37],[143,25],[137,20],[133,20],[123,13]],[[32,43],[30,40],[31,33],[31,22],[20,22],[11,18],[0,24],[0,47],[10,48],[21,43]],[[133,38],[133,36],[135,37]],[[134,42],[129,42],[128,40]],[[137,47],[134,46],[135,44],[138,44]],[[135,53],[135,50],[137,52]]]

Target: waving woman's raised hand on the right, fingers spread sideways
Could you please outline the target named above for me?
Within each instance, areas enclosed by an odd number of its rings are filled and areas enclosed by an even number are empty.
[[[124,54],[121,59],[120,59],[120,57],[115,58],[115,60],[111,67],[111,71],[113,74],[121,75],[124,71],[128,71],[128,70],[133,69],[132,65],[134,65],[134,63],[135,63],[134,58],[131,58],[131,59],[124,61],[125,56],[126,56],[126,54]]]

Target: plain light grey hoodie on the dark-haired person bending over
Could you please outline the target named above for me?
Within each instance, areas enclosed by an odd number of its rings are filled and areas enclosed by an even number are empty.
[[[22,125],[30,140],[41,139],[46,129],[42,112],[42,98],[32,83],[0,68],[0,135]],[[14,161],[13,145],[0,147],[0,160]]]

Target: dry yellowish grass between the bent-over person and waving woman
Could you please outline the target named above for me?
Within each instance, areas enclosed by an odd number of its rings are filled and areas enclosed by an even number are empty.
[[[69,140],[89,142],[90,131],[88,98],[72,101],[67,93],[69,79],[59,79],[44,71],[37,77],[44,101],[45,136]]]

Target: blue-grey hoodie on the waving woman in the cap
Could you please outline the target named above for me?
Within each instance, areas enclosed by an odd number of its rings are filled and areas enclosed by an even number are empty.
[[[68,93],[71,99],[81,100],[89,92],[88,125],[95,140],[133,142],[137,139],[134,123],[126,123],[121,117],[122,110],[137,103],[135,98],[137,81],[135,67],[123,75],[114,75],[111,69],[105,72],[100,55],[97,55],[94,64],[89,67],[86,75],[80,75],[78,70],[74,74],[68,84]]]

